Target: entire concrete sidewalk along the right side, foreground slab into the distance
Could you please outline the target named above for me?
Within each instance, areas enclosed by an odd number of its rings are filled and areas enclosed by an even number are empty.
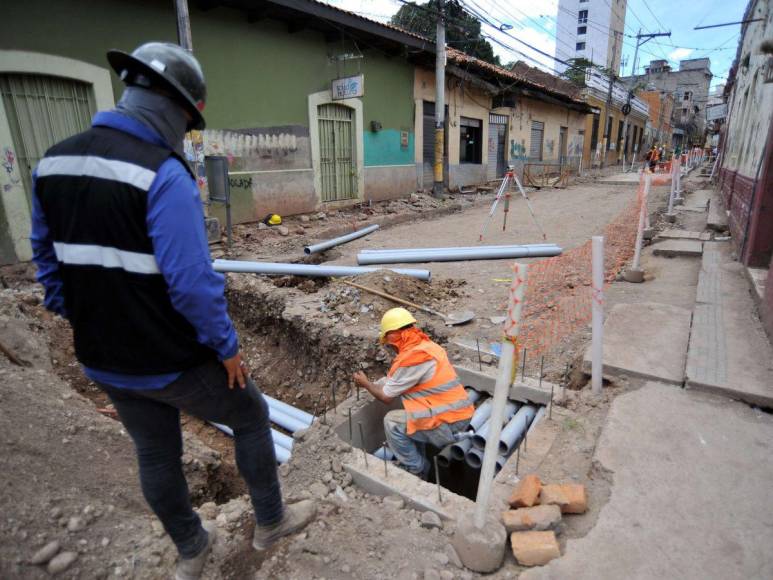
[[[705,198],[676,208],[681,230],[702,233]],[[521,578],[773,577],[773,414],[754,406],[773,408],[773,349],[728,242],[674,258],[654,252],[662,243],[642,254],[647,282],[606,295],[605,374],[634,389],[612,402],[594,453],[609,501]]]

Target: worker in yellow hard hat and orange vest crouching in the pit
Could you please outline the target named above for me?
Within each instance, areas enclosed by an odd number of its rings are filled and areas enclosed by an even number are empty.
[[[384,314],[380,340],[396,353],[387,376],[374,383],[358,371],[354,381],[382,403],[401,398],[403,409],[384,417],[387,443],[401,467],[429,479],[425,444],[441,449],[456,441],[456,434],[467,429],[474,406],[446,351],[416,327],[405,308]]]

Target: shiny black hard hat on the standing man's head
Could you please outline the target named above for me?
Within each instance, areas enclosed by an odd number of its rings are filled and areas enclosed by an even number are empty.
[[[171,92],[192,121],[188,130],[203,129],[201,114],[207,101],[207,84],[199,61],[183,47],[170,42],[148,42],[131,54],[109,50],[107,61],[127,85],[159,87]]]

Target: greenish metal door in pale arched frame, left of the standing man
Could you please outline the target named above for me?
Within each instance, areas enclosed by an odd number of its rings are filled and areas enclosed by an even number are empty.
[[[0,75],[0,93],[31,204],[32,170],[49,147],[91,126],[94,93],[87,83],[31,74]]]

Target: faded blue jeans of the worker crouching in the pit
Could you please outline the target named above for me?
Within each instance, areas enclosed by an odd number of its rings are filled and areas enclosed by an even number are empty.
[[[456,423],[443,423],[435,429],[416,431],[408,435],[408,415],[397,409],[389,411],[384,416],[384,433],[389,448],[405,469],[414,475],[424,476],[429,473],[429,461],[424,457],[424,445],[429,443],[438,449],[456,441],[454,436],[467,429],[469,420]]]

